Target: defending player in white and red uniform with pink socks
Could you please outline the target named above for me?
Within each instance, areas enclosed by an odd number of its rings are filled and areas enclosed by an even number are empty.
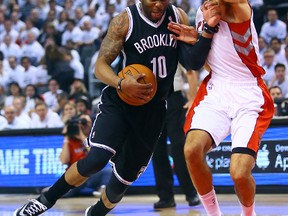
[[[231,134],[230,175],[241,215],[252,216],[256,215],[256,184],[251,170],[261,137],[273,116],[273,102],[261,78],[265,72],[260,66],[257,33],[248,0],[215,1],[204,2],[202,7],[219,5],[219,31],[218,26],[205,23],[201,9],[197,14],[198,31],[214,36],[207,58],[211,72],[201,84],[185,123],[185,158],[207,214],[222,215],[205,155]],[[189,43],[187,26],[170,23],[169,30],[178,35],[175,37],[178,40]]]

